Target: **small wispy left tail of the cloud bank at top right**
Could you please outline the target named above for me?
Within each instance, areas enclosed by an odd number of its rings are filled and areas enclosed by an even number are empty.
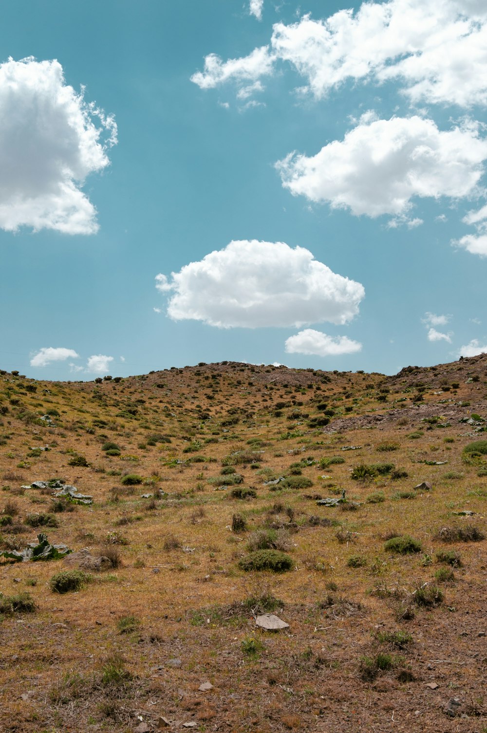
[[[213,89],[227,81],[235,81],[239,85],[257,81],[261,76],[272,72],[273,59],[268,46],[255,48],[252,54],[241,59],[229,59],[223,62],[216,54],[205,58],[205,70],[191,76],[191,81],[200,89]]]

